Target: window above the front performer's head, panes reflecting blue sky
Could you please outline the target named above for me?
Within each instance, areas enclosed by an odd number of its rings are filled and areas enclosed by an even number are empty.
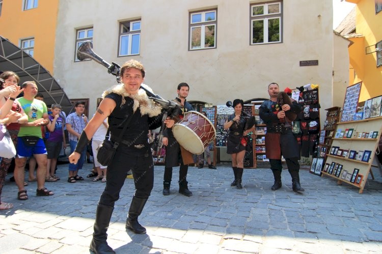
[[[118,56],[138,55],[141,45],[141,20],[124,21],[119,27]]]

